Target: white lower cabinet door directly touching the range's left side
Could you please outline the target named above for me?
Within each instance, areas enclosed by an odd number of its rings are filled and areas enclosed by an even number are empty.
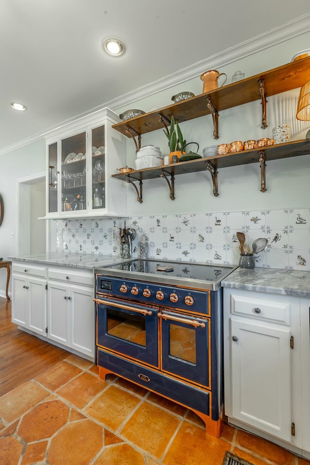
[[[70,286],[69,345],[72,349],[94,356],[93,289]]]

